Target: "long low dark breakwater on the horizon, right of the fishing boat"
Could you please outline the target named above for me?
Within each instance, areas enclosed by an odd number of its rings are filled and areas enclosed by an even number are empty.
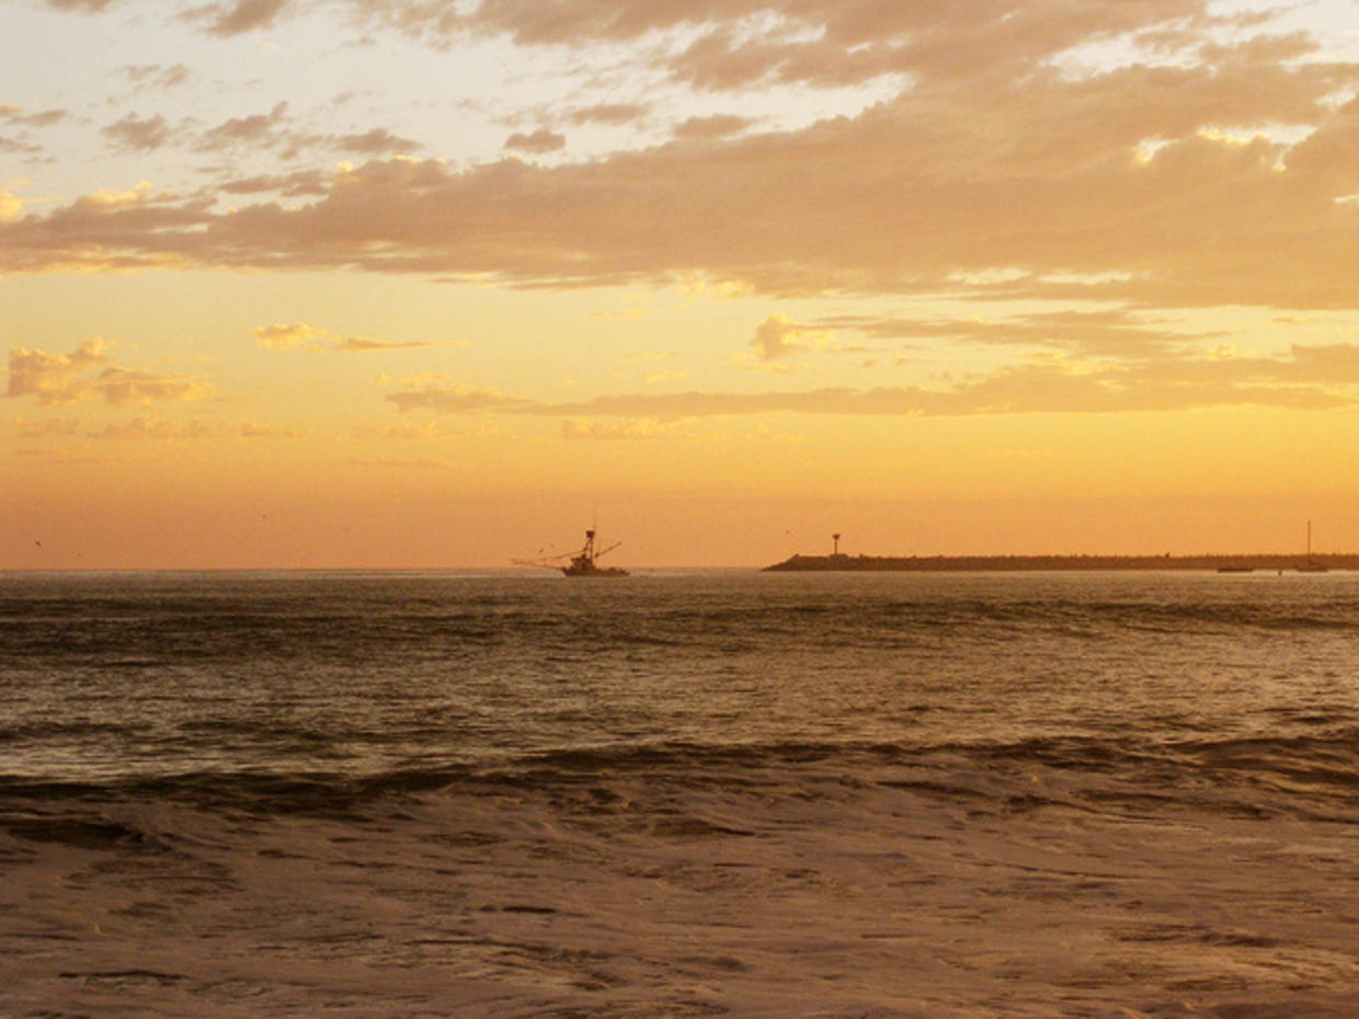
[[[764,572],[992,573],[1182,569],[1224,573],[1359,569],[1359,554],[1313,556],[791,556]]]

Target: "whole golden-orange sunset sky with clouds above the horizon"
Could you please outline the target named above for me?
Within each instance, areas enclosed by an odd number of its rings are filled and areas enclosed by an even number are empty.
[[[1359,549],[1354,3],[0,41],[0,568]]]

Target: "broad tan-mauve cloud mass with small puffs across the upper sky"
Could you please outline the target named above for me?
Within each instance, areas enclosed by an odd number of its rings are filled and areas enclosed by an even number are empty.
[[[198,10],[205,30],[223,35],[299,7]],[[357,268],[537,287],[700,276],[780,296],[1359,306],[1359,65],[1263,16],[1219,15],[1197,0],[352,0],[349,10],[356,24],[439,45],[637,43],[654,72],[733,96],[769,83],[900,84],[853,117],[750,133],[752,118],[707,115],[666,144],[587,160],[550,128],[510,136],[508,149],[550,154],[550,166],[393,158],[414,143],[390,126],[318,135],[279,102],[200,130],[193,144],[381,158],[10,215],[0,272]],[[655,38],[670,42],[640,46]],[[1127,56],[1099,64],[1095,48]],[[646,111],[573,109],[580,124],[629,124]],[[158,115],[128,114],[106,135],[151,149],[166,143],[164,128]],[[294,201],[265,197],[289,185]],[[231,208],[224,194],[261,197]]]

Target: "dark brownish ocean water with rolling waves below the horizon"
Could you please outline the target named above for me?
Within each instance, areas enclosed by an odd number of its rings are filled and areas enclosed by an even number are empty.
[[[0,1015],[1359,1015],[1359,576],[0,576]]]

